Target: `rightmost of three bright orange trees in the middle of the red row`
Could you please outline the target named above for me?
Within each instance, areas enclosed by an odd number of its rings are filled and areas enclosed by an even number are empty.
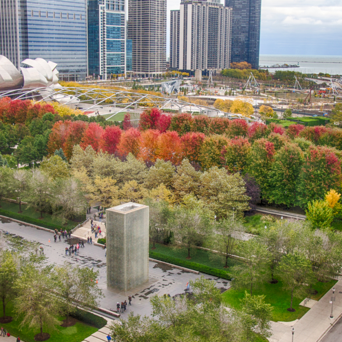
[[[175,131],[165,132],[158,137],[157,158],[178,164],[182,160],[182,143]]]

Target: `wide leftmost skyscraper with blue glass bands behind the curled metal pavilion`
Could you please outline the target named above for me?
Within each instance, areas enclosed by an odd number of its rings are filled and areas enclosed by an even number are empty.
[[[84,79],[85,0],[1,0],[0,54],[17,68],[25,58],[44,58],[58,64],[60,79]]]

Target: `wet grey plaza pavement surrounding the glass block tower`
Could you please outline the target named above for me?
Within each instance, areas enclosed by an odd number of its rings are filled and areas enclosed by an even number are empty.
[[[4,219],[1,219],[0,231],[15,234],[29,241],[39,242],[40,245],[44,247],[44,254],[48,257],[50,263],[63,264],[65,261],[69,261],[74,264],[93,267],[94,270],[98,270],[98,287],[102,289],[105,296],[100,299],[100,307],[116,311],[117,302],[120,304],[124,300],[127,300],[128,302],[128,296],[132,296],[132,305],[127,306],[126,312],[121,316],[123,318],[127,317],[128,313],[131,311],[134,311],[134,314],[140,314],[142,316],[150,315],[152,312],[152,307],[149,302],[150,297],[155,294],[163,295],[164,293],[170,294],[171,297],[184,294],[187,291],[187,282],[189,280],[195,280],[201,275],[207,279],[215,280],[216,286],[221,289],[221,292],[230,287],[230,282],[226,279],[202,273],[197,275],[150,261],[149,280],[145,284],[126,292],[107,288],[105,250],[101,247],[84,243],[84,248],[79,248],[79,254],[72,257],[71,255],[65,255],[65,247],[69,247],[69,243],[74,243],[75,245],[75,241],[71,240],[77,239],[62,238],[62,241],[58,241],[57,239],[57,242],[54,242],[53,233]]]

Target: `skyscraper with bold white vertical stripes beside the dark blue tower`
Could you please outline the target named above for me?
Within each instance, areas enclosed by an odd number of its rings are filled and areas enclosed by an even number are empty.
[[[194,73],[229,67],[231,9],[217,2],[182,1],[171,11],[170,67]]]

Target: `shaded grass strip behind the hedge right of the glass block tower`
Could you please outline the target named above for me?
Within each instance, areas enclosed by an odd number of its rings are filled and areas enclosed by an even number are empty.
[[[168,257],[178,258],[182,260],[188,260],[186,257],[188,256],[187,249],[178,248],[178,247],[169,247],[163,244],[155,244],[156,249],[151,249],[152,244],[150,244],[150,251],[157,252],[160,254],[167,255]],[[216,253],[208,252],[202,249],[193,248],[190,250],[191,259],[189,261],[196,262],[198,264],[206,265],[213,268],[222,269],[226,272],[229,272],[229,268],[224,268],[225,259],[222,257],[218,257]],[[239,261],[235,259],[228,258],[228,266],[232,267],[237,264],[240,264]]]

